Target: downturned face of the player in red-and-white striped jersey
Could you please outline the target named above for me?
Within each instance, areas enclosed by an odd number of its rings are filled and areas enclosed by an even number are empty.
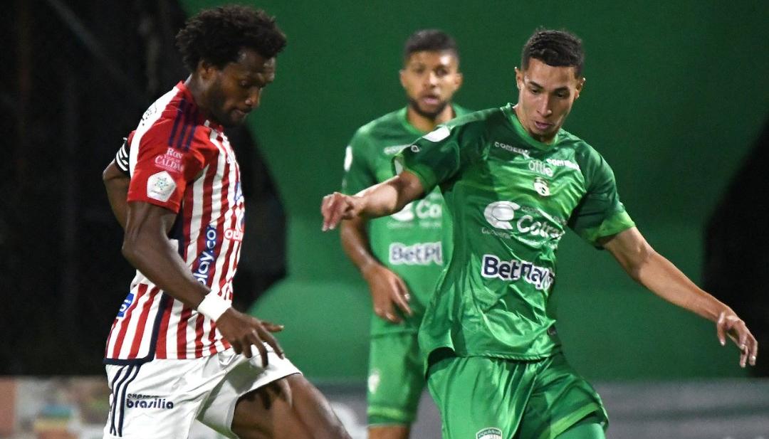
[[[243,49],[237,62],[210,70],[205,78],[205,110],[225,127],[239,125],[259,106],[262,91],[275,80],[275,58],[265,59]]]

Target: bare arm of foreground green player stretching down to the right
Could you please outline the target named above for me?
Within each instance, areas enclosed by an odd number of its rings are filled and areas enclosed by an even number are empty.
[[[728,335],[740,348],[742,367],[747,361],[751,365],[756,364],[758,343],[744,321],[727,305],[697,287],[671,261],[654,251],[638,228],[615,234],[603,244],[634,281],[666,301],[715,322],[721,344],[726,343]]]

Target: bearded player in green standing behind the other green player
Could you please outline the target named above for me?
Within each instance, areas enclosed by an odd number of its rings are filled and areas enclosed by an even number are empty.
[[[414,32],[404,46],[401,85],[408,105],[363,125],[345,155],[342,191],[355,194],[394,176],[392,158],[415,138],[467,111],[451,104],[462,83],[457,45],[435,29]],[[368,431],[372,439],[405,439],[424,389],[417,331],[444,267],[443,198],[435,189],[398,214],[341,224],[345,252],[368,283],[371,318]]]

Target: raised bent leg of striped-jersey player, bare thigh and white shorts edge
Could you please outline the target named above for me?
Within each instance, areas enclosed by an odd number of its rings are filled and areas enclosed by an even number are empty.
[[[325,397],[286,358],[268,348],[228,371],[208,397],[198,420],[240,439],[349,439]]]

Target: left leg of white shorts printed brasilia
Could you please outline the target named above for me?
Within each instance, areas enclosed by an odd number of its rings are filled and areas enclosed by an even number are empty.
[[[112,394],[104,437],[126,439],[187,437],[218,377],[217,358],[106,368]]]

